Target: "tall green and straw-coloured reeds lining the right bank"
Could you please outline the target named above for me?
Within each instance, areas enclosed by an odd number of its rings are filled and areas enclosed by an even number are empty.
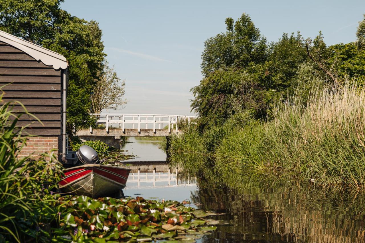
[[[362,188],[364,101],[365,89],[355,83],[313,89],[306,106],[299,98],[283,102],[268,122],[236,116],[204,133],[190,126],[172,138],[170,154],[175,161],[204,158],[192,166],[212,167],[228,185],[258,174],[325,188]]]

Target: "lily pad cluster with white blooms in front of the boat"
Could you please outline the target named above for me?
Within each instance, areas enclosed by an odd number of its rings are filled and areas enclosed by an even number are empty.
[[[73,242],[195,242],[216,230],[217,215],[188,207],[187,202],[59,197],[63,208],[58,239]]]

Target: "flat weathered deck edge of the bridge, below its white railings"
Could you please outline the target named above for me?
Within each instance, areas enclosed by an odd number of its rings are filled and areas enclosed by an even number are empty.
[[[77,132],[77,136],[114,136],[116,139],[120,137],[167,137],[171,134],[179,134],[181,130],[171,130],[169,132],[168,129],[155,129],[156,132],[153,132],[153,129],[123,129],[122,128],[109,128],[108,132],[105,128],[94,128],[90,129],[80,129]],[[90,132],[91,131],[91,132]]]

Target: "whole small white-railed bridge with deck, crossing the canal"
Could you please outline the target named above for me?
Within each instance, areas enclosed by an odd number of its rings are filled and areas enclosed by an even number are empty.
[[[97,128],[80,129],[78,136],[169,136],[180,132],[180,124],[196,123],[195,116],[155,114],[90,114],[97,118]]]

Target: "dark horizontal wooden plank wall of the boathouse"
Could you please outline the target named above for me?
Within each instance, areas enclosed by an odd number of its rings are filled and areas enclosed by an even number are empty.
[[[27,132],[39,136],[61,134],[60,70],[0,42],[0,89],[4,92],[2,103],[19,101],[43,122],[42,125],[33,117],[22,115],[20,125],[31,123]],[[24,109],[15,103],[14,110],[22,112]]]

